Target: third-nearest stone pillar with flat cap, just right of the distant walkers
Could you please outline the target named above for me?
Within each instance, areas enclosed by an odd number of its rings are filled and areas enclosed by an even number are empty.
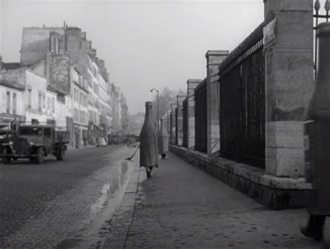
[[[195,146],[195,87],[201,83],[202,80],[187,80],[187,94],[188,94],[188,144],[187,149],[194,149]]]

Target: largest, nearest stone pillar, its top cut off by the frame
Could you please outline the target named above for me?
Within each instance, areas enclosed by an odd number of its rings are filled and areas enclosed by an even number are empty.
[[[304,176],[304,112],[313,93],[313,1],[267,0],[266,173]]]

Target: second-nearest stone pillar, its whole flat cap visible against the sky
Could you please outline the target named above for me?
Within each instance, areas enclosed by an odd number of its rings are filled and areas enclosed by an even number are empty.
[[[228,50],[207,51],[207,156],[220,150],[219,128],[219,64],[228,55]]]

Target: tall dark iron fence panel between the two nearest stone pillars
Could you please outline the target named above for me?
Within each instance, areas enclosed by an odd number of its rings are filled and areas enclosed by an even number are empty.
[[[265,167],[263,27],[219,66],[221,156],[259,167]]]

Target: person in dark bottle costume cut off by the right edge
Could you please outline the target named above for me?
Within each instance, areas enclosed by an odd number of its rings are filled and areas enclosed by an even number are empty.
[[[313,190],[308,205],[309,218],[301,232],[315,241],[322,241],[323,227],[330,216],[330,24],[317,26],[319,45],[317,60],[316,87],[308,108],[305,125],[306,137],[306,179],[312,183]]]

